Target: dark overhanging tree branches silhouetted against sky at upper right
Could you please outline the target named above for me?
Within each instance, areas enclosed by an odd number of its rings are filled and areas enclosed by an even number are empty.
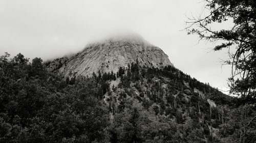
[[[199,35],[200,40],[221,42],[215,51],[228,49],[230,59],[223,62],[232,66],[230,92],[256,103],[256,1],[206,0],[205,9],[209,10],[207,16],[188,19],[188,34]],[[231,20],[231,28],[211,27]]]

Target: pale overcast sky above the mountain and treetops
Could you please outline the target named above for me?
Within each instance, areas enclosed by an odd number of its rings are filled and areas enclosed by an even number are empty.
[[[201,0],[0,0],[0,53],[57,58],[119,31],[135,32],[160,47],[170,61],[201,82],[226,90],[225,51],[188,36],[186,15],[201,13]]]

